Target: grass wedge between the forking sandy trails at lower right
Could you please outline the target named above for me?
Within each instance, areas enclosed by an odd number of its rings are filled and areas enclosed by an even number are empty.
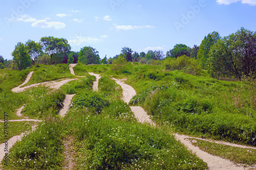
[[[220,156],[225,159],[229,159],[237,164],[247,164],[255,165],[256,162],[256,150],[255,149],[245,149],[238,147],[231,147],[229,145],[218,144],[214,142],[209,142],[205,140],[191,138],[191,140],[196,140],[193,144],[199,147],[201,150],[211,154]]]

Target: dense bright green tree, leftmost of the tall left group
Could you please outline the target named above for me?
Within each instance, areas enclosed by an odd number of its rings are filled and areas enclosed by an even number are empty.
[[[14,68],[18,70],[26,69],[30,63],[30,56],[24,43],[18,42],[12,52]]]

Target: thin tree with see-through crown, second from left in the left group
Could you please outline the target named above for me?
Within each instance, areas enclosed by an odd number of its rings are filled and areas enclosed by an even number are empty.
[[[42,55],[42,45],[39,42],[31,41],[30,39],[26,42],[27,50],[30,55],[32,64],[35,64],[35,59]]]

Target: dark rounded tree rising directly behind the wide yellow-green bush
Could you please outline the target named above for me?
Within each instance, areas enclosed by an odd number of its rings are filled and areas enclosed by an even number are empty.
[[[176,44],[172,50],[166,53],[166,56],[172,58],[177,58],[183,55],[190,56],[190,47],[185,44]]]

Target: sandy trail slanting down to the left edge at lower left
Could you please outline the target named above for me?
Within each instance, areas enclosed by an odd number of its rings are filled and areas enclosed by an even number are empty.
[[[32,126],[32,130],[30,132],[33,132],[36,129],[36,126],[37,125]],[[30,133],[30,132],[28,132],[28,133]],[[22,133],[20,135],[13,136],[12,138],[10,138],[8,140],[8,152],[10,151],[11,147],[13,146],[13,144],[16,141],[22,140],[22,137],[24,136],[25,133],[26,132],[24,132],[24,133]],[[5,156],[5,153],[6,153],[6,152],[4,152],[5,148],[6,148],[6,144],[5,143],[0,144],[0,151],[1,151],[0,152],[0,162],[4,159],[4,156]]]

